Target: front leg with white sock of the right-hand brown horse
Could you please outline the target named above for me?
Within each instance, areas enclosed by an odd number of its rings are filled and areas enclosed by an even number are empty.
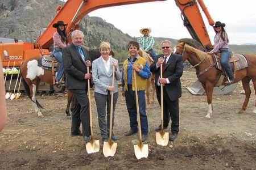
[[[208,103],[208,112],[205,118],[209,119],[210,117],[212,117],[212,111],[213,111],[213,106],[212,106],[213,84],[210,82],[207,82],[205,85],[203,85],[203,87],[207,94],[207,103]]]

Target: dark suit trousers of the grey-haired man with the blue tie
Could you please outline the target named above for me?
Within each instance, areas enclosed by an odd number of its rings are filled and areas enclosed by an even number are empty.
[[[74,109],[72,112],[71,133],[79,131],[82,122],[82,136],[90,135],[89,99],[85,90],[69,89],[74,95]]]

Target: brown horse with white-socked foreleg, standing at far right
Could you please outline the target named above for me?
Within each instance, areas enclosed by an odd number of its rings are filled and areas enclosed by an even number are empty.
[[[222,71],[216,69],[214,65],[216,63],[213,62],[212,55],[202,52],[201,50],[195,49],[192,46],[186,45],[185,42],[180,42],[176,46],[176,54],[181,54],[183,56],[183,62],[188,60],[189,63],[196,69],[196,74],[199,82],[201,82],[204,90],[207,94],[208,101],[208,113],[205,118],[210,118],[212,116],[212,94],[213,87],[216,85],[218,80],[221,77]],[[243,102],[242,108],[239,113],[245,112],[247,108],[247,104],[249,102],[249,97],[251,94],[250,90],[250,80],[253,82],[254,91],[256,95],[256,55],[245,53],[243,56],[246,56],[248,67],[244,69],[236,71],[236,79],[233,83],[237,83],[240,80],[242,81],[243,90],[245,90],[245,101]],[[226,78],[224,78],[221,85],[228,85],[224,82]],[[254,105],[254,113],[256,113],[256,103]]]

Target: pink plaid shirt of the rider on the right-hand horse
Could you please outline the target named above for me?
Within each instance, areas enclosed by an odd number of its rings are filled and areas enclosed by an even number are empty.
[[[228,35],[226,34],[226,32],[223,32],[223,33],[224,33],[225,41],[221,39],[221,32],[218,32],[214,37],[214,48],[209,52],[210,54],[217,53],[218,50],[222,48],[229,48]]]

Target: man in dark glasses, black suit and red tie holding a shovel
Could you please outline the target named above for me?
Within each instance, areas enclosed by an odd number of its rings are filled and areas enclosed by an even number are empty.
[[[179,98],[181,97],[180,77],[183,74],[183,58],[172,53],[172,42],[161,42],[162,52],[155,57],[150,71],[155,73],[156,97],[161,104],[161,88],[163,84],[163,125],[167,129],[171,117],[170,141],[174,141],[179,134]],[[160,78],[160,65],[162,64],[163,78]],[[161,125],[155,129],[161,130]]]

